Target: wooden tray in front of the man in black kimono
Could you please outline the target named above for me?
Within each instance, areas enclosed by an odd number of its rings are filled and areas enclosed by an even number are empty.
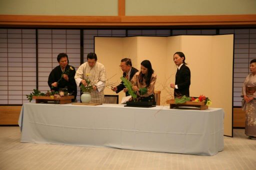
[[[59,102],[59,104],[66,104],[66,103],[71,103],[71,99],[74,98],[74,96],[62,96],[58,99],[50,98],[50,96],[33,96],[33,99],[35,99],[35,103],[47,103],[49,101],[53,102]]]

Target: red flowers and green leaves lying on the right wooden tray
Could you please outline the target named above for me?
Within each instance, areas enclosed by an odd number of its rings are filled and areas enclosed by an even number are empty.
[[[209,100],[207,97],[200,95],[198,98],[194,98],[194,97],[186,97],[186,96],[182,96],[182,97],[175,97],[175,104],[182,104],[185,103],[187,101],[191,101],[191,102],[204,102],[204,104],[206,106],[211,105],[211,100]]]

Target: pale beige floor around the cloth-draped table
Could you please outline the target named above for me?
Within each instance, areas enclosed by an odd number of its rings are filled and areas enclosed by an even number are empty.
[[[215,156],[20,143],[18,127],[0,127],[0,170],[256,170],[256,141],[243,129],[224,137]]]

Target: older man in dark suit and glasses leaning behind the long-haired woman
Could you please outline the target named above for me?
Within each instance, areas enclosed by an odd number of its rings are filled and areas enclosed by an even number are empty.
[[[123,71],[122,76],[129,81],[132,79],[133,75],[136,72],[138,72],[138,70],[136,68],[132,67],[131,60],[129,58],[121,59],[120,67]],[[114,91],[115,93],[119,93],[124,88],[125,88],[125,86],[123,85],[123,82],[121,82],[118,86],[113,87],[112,91]],[[125,90],[125,96],[128,96],[128,95],[129,95],[128,92]]]

